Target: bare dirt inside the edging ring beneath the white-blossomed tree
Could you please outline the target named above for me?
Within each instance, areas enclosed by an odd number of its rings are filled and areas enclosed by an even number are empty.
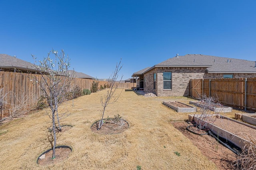
[[[38,159],[39,165],[49,165],[49,164],[56,164],[58,162],[61,162],[62,160],[68,158],[68,155],[70,154],[72,150],[70,148],[56,148],[55,149],[55,158],[52,159],[52,150],[45,153],[44,159]]]

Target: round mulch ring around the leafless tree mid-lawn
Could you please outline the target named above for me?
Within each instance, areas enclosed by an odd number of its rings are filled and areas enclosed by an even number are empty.
[[[123,120],[122,125],[118,125],[117,123],[114,123],[114,119],[108,118],[103,119],[104,123],[102,127],[98,130],[98,123],[100,120],[94,122],[91,126],[91,130],[95,133],[102,134],[102,135],[112,135],[117,133],[122,133],[129,127],[129,123],[126,120]]]

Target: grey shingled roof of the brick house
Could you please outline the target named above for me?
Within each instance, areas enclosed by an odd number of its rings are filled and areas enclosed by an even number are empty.
[[[152,66],[143,74],[156,67],[206,67],[209,73],[256,73],[254,61],[201,54],[170,58]]]

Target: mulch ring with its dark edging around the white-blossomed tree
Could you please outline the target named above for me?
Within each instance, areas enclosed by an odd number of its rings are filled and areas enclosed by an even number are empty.
[[[72,148],[66,145],[55,147],[55,158],[52,159],[52,149],[48,149],[37,158],[36,163],[39,165],[50,165],[61,162],[68,158]],[[40,158],[41,157],[41,158]]]

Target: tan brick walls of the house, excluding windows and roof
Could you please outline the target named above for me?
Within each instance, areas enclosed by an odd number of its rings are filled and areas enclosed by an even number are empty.
[[[172,89],[164,89],[163,72],[172,72]],[[191,68],[191,67],[158,67],[146,72],[145,92],[151,92],[157,96],[189,96],[190,79],[204,78],[206,68]],[[153,89],[153,75],[156,73],[156,89]]]

